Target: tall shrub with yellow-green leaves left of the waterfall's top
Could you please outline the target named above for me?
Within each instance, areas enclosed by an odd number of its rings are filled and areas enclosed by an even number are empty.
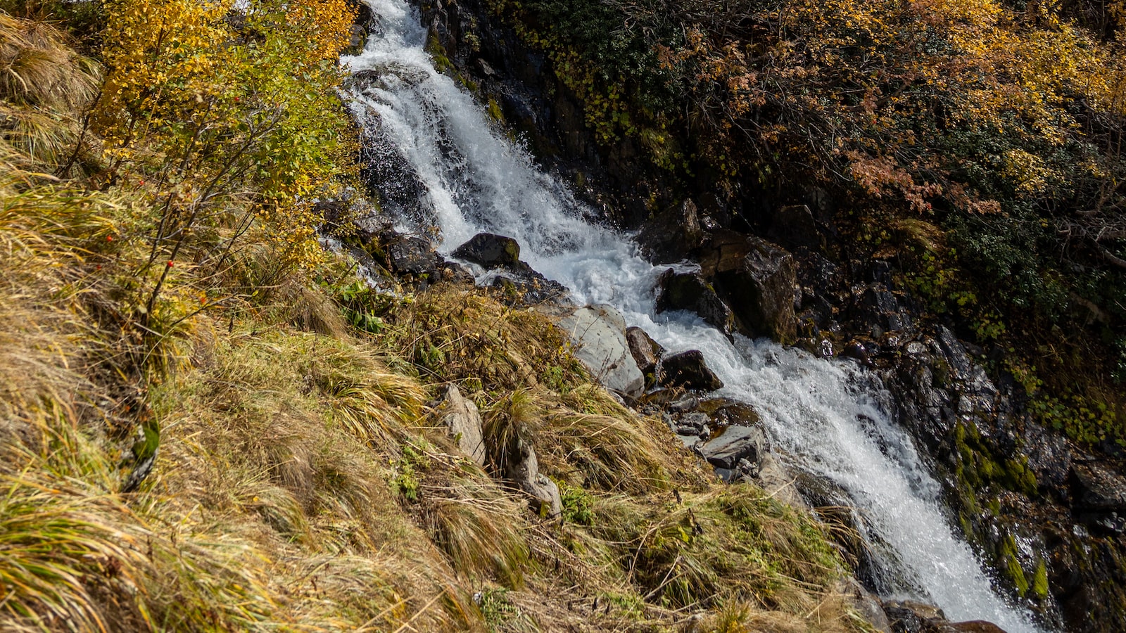
[[[105,10],[95,124],[113,176],[153,213],[142,323],[185,248],[217,269],[254,235],[278,267],[314,264],[311,198],[337,186],[354,149],[336,96],[346,2],[109,0]]]

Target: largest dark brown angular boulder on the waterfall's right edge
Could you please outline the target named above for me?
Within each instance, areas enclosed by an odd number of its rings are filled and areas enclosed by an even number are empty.
[[[744,247],[734,261],[717,260],[717,289],[743,333],[790,345],[797,340],[794,301],[801,292],[794,256],[756,237],[747,237]]]

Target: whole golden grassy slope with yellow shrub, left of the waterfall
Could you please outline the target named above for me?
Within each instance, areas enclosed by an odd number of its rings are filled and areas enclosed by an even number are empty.
[[[0,627],[866,628],[820,524],[543,318],[325,253],[351,9],[239,6],[0,5]],[[562,520],[458,453],[447,384]]]

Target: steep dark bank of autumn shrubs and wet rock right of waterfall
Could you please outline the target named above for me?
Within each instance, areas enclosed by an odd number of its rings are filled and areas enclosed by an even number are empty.
[[[736,321],[753,315],[738,314],[723,267],[744,235],[792,250],[793,329],[736,327],[876,368],[1011,594],[1070,628],[1117,626],[1118,14],[992,2],[422,11],[440,65],[608,219],[640,225],[651,259],[700,262]]]

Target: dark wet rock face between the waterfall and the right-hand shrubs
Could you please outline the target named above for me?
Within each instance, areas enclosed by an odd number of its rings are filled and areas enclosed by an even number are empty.
[[[695,259],[704,268],[700,284],[722,296],[731,291],[724,282],[734,282],[721,264],[740,234],[757,233],[788,251],[799,286],[788,336],[879,373],[900,422],[944,483],[951,520],[993,565],[998,585],[1051,626],[1119,626],[1126,613],[1123,464],[1039,426],[995,354],[964,342],[951,323],[929,313],[899,283],[893,264],[843,243],[830,193],[749,187],[718,196],[706,177],[669,181],[633,141],[600,144],[551,62],[482,0],[436,0],[421,10],[439,66],[605,221],[642,228],[642,248],[654,261]],[[804,204],[779,204],[784,199]]]

